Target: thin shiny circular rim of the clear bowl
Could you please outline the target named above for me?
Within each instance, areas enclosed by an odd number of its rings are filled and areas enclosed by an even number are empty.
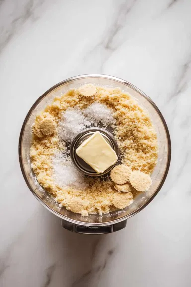
[[[135,90],[136,92],[138,92],[141,96],[145,97],[149,102],[150,104],[154,107],[154,109],[156,110],[156,112],[158,113],[162,123],[163,123],[163,126],[164,126],[164,129],[165,129],[165,132],[166,132],[166,137],[167,137],[167,142],[168,142],[168,156],[167,156],[167,163],[166,163],[166,168],[165,168],[165,172],[164,172],[164,176],[158,186],[158,188],[156,189],[156,191],[152,194],[152,196],[142,205],[140,206],[139,208],[137,208],[135,211],[133,211],[132,213],[124,216],[124,217],[121,217],[121,218],[118,218],[118,219],[114,219],[112,221],[109,221],[109,222],[104,222],[104,223],[87,223],[87,222],[82,222],[82,221],[77,221],[77,220],[73,220],[73,219],[70,219],[64,215],[61,215],[59,214],[57,211],[51,209],[35,192],[34,190],[32,189],[28,179],[27,179],[27,176],[25,174],[25,171],[24,171],[24,166],[23,166],[23,161],[22,161],[22,153],[21,153],[21,148],[22,148],[22,140],[23,140],[23,134],[24,134],[24,130],[25,130],[25,125],[32,113],[32,111],[35,109],[35,107],[39,104],[39,102],[45,97],[47,96],[51,91],[53,91],[54,89],[58,88],[59,86],[63,85],[63,84],[66,84],[66,83],[69,83],[69,82],[72,82],[74,80],[77,80],[77,79],[86,79],[86,78],[94,78],[94,77],[97,77],[97,78],[102,78],[102,79],[109,79],[109,80],[113,80],[115,82],[119,82],[121,84],[124,84],[128,87],[130,87],[131,89]],[[53,214],[55,214],[56,216],[60,217],[61,219],[64,219],[66,221],[69,221],[71,223],[74,223],[74,224],[78,224],[78,225],[82,225],[82,226],[107,226],[107,225],[111,225],[111,224],[115,224],[115,223],[119,223],[123,220],[126,220],[128,218],[130,218],[131,216],[139,213],[142,209],[144,209],[153,199],[154,197],[158,194],[158,192],[160,191],[160,189],[162,188],[164,182],[165,182],[165,179],[167,177],[167,174],[168,174],[168,171],[169,171],[169,167],[170,167],[170,162],[171,162],[171,139],[170,139],[170,134],[169,134],[169,130],[168,130],[168,127],[167,127],[167,124],[166,124],[166,121],[162,115],[162,113],[160,112],[160,110],[158,109],[158,107],[156,106],[156,104],[152,101],[152,99],[150,99],[149,96],[147,96],[144,92],[142,92],[139,88],[137,88],[136,86],[134,86],[133,84],[123,80],[123,79],[120,79],[120,78],[117,78],[117,77],[114,77],[114,76],[109,76],[109,75],[104,75],[104,74],[85,74],[85,75],[79,75],[79,76],[75,76],[75,77],[71,77],[71,78],[68,78],[66,80],[63,80],[59,83],[57,83],[56,85],[52,86],[50,89],[48,89],[42,96],[40,96],[36,101],[35,103],[32,105],[32,107],[30,108],[30,110],[28,111],[25,119],[24,119],[24,122],[22,124],[22,128],[21,128],[21,132],[20,132],[20,136],[19,136],[19,144],[18,144],[18,154],[19,154],[19,162],[20,162],[20,168],[21,168],[21,171],[22,171],[22,175],[24,177],[24,180],[28,186],[28,188],[30,189],[30,191],[33,193],[33,195],[36,197],[36,199],[46,208],[48,209],[50,212],[52,212]]]

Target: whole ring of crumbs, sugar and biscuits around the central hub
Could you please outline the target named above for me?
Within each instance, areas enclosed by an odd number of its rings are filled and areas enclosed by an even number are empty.
[[[69,146],[86,127],[113,130],[120,162],[110,177],[91,178],[73,165]],[[120,88],[86,84],[55,97],[32,126],[31,166],[40,185],[72,212],[87,216],[123,209],[145,192],[157,161],[157,136],[149,114]]]

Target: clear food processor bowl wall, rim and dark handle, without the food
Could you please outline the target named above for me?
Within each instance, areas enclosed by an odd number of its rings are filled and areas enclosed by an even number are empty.
[[[73,213],[65,207],[59,207],[51,195],[38,183],[31,168],[30,146],[32,141],[32,124],[35,117],[54,97],[62,96],[71,88],[78,88],[85,83],[97,86],[119,87],[130,94],[149,113],[157,132],[158,139],[158,161],[151,174],[152,185],[149,191],[139,194],[134,202],[123,210],[115,210],[108,214],[91,214],[81,216]],[[108,139],[109,140],[109,139]],[[114,140],[113,140],[114,142]],[[64,80],[40,96],[29,110],[22,125],[19,138],[19,161],[23,177],[33,195],[37,200],[53,214],[62,219],[62,226],[70,231],[83,234],[105,234],[118,231],[126,226],[127,219],[135,215],[151,202],[160,191],[167,177],[171,159],[171,141],[167,124],[154,102],[141,90],[129,82],[108,75],[88,74]],[[74,161],[73,161],[74,162]],[[79,168],[80,170],[80,168]]]

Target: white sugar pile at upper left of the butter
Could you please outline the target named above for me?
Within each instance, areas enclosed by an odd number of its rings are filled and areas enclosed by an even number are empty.
[[[85,118],[80,109],[68,108],[58,124],[58,134],[62,140],[71,142],[79,132],[90,125],[91,122]]]

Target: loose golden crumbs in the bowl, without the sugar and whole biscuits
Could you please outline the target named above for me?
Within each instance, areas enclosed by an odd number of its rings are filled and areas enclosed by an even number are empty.
[[[36,116],[33,124],[34,138],[30,150],[31,167],[39,184],[46,188],[61,206],[74,207],[73,210],[77,210],[75,209],[76,203],[85,202],[85,204],[79,204],[82,208],[78,208],[83,216],[97,212],[109,213],[115,208],[113,198],[121,196],[116,194],[122,193],[116,193],[112,181],[102,181],[98,178],[85,178],[87,188],[83,191],[71,186],[62,188],[55,184],[52,157],[56,151],[64,152],[65,143],[59,140],[57,130],[51,135],[44,135],[40,130],[40,125],[45,119],[50,119],[58,124],[62,113],[67,108],[84,109],[95,101],[114,110],[116,124],[113,130],[120,148],[123,165],[129,166],[133,171],[140,170],[150,175],[157,161],[157,136],[148,113],[130,95],[123,93],[119,88],[97,86],[94,97],[81,96],[78,89],[70,89],[61,97],[55,97],[52,104],[47,105],[44,111]],[[139,191],[132,187],[131,193],[133,197],[136,197]],[[74,198],[76,201],[73,201]],[[87,202],[89,204],[86,206]]]

